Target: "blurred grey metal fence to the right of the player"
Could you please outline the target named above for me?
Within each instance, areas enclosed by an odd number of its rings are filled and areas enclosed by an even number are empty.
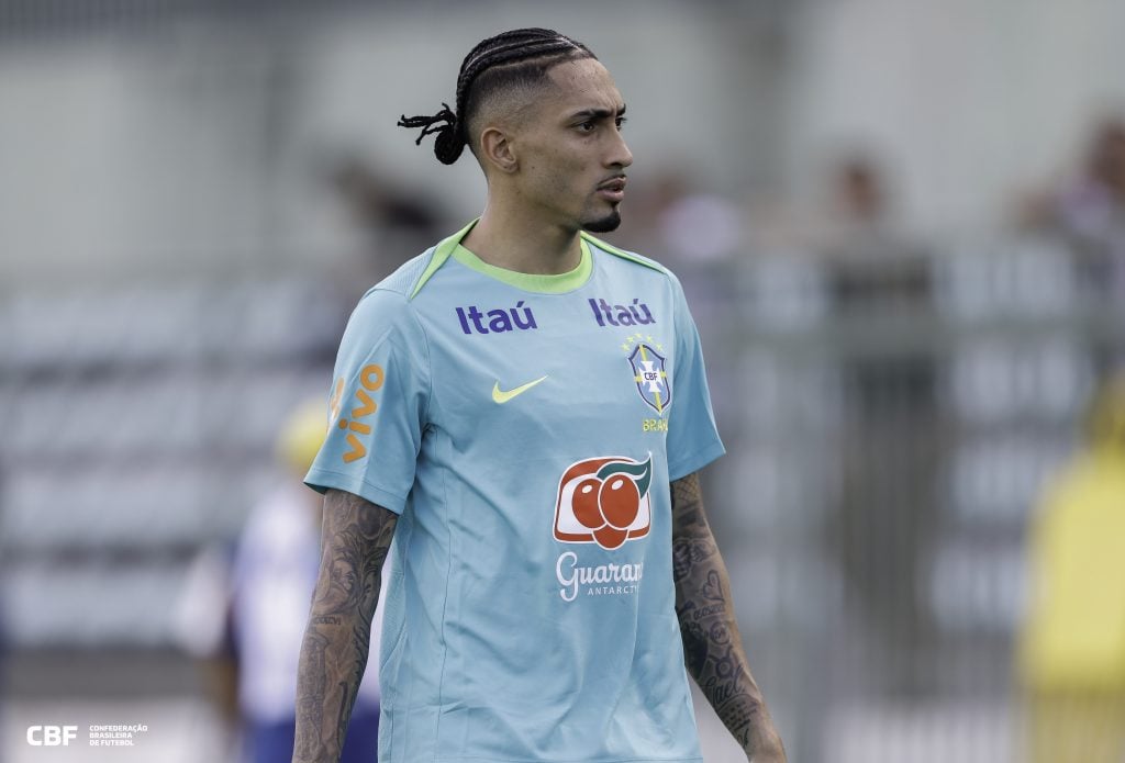
[[[1025,530],[1125,357],[1119,267],[1026,236],[687,269],[709,503],[791,760],[1019,760]]]

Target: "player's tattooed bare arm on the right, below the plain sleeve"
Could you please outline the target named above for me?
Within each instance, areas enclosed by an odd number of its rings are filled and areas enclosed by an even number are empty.
[[[687,672],[752,763],[783,763],[785,751],[742,651],[730,580],[706,515],[699,474],[672,483],[676,616]]]

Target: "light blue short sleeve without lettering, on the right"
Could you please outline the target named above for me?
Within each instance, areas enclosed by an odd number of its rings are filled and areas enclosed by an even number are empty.
[[[726,453],[726,448],[714,425],[700,335],[675,276],[672,276],[672,285],[676,355],[667,452],[668,479],[675,481],[708,465]]]

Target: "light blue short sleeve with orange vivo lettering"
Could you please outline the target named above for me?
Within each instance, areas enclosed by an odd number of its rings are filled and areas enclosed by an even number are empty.
[[[393,291],[368,292],[340,343],[328,430],[305,483],[402,514],[429,398],[426,338],[411,306]]]

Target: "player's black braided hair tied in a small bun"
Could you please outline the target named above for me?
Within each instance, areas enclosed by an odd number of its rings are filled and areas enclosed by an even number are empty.
[[[433,116],[403,115],[398,126],[422,128],[414,145],[435,134],[433,153],[442,164],[452,164],[469,143],[469,121],[488,96],[512,87],[537,84],[555,64],[596,57],[582,43],[552,29],[502,33],[482,40],[465,56],[457,75],[454,108],[442,103],[441,111]]]

